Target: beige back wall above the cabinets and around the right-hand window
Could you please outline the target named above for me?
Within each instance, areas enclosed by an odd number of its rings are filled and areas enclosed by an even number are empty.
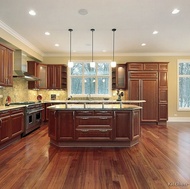
[[[44,57],[47,64],[67,64],[68,57]],[[72,60],[90,60],[91,57],[73,57]],[[111,57],[96,57],[95,60],[110,60]],[[122,56],[115,57],[119,64],[126,62],[169,62],[168,64],[168,116],[190,117],[188,111],[177,111],[177,60],[190,56]]]

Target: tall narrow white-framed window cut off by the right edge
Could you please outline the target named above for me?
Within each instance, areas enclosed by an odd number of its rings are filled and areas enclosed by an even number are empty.
[[[190,60],[178,61],[178,110],[190,110]]]

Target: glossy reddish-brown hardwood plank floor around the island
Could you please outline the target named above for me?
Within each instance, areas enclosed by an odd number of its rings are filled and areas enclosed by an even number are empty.
[[[0,188],[190,188],[190,123],[142,126],[132,148],[58,149],[43,126],[0,151]]]

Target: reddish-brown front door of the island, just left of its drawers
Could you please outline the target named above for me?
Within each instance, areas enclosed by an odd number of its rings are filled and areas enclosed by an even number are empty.
[[[60,111],[58,114],[58,140],[74,140],[74,112]]]

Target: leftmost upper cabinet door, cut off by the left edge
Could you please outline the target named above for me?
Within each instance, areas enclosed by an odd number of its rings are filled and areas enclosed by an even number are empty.
[[[0,45],[0,85],[5,85],[6,48]]]

